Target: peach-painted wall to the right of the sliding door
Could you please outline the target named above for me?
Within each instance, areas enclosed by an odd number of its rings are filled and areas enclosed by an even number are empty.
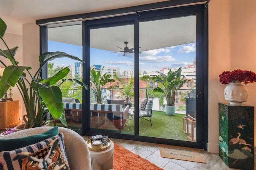
[[[256,72],[256,1],[211,0],[209,22],[209,142],[208,152],[218,153],[218,102],[225,102],[218,80],[222,71]],[[248,101],[256,108],[256,84],[248,84]],[[254,109],[254,114],[256,113]],[[255,121],[255,119],[254,119]],[[256,130],[254,130],[254,133]],[[255,134],[254,134],[255,135]]]

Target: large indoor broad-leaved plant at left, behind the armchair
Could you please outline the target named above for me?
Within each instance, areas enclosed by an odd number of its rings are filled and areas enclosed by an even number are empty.
[[[10,49],[4,41],[3,38],[6,30],[7,26],[2,18],[0,18],[0,39],[7,48],[6,50],[0,49],[0,55],[4,56],[7,58],[6,60],[9,60],[12,63],[12,65],[7,66],[4,61],[0,60],[5,67],[0,80],[0,98],[4,96],[10,86],[14,87],[17,85],[26,108],[26,114],[23,116],[23,120],[26,123],[24,128],[40,127],[49,123],[51,121],[50,119],[43,121],[44,117],[47,115],[44,114],[46,111],[48,111],[54,119],[60,119],[62,124],[67,125],[62,103],[62,92],[55,83],[62,79],[63,82],[73,81],[85,89],[88,89],[88,86],[76,79],[64,79],[70,71],[68,67],[63,68],[48,79],[42,79],[40,77],[42,67],[48,61],[59,57],[68,57],[80,62],[84,61],[78,57],[60,51],[45,52],[39,56],[40,67],[35,75],[32,76],[30,73],[31,67],[19,66],[18,61],[14,58],[18,47]]]

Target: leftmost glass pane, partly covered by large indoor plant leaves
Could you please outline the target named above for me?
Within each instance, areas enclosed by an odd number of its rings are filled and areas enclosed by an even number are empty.
[[[66,34],[66,33],[69,34]],[[82,59],[82,25],[48,28],[48,51],[62,51]],[[70,37],[69,37],[70,36]],[[47,63],[47,76],[52,77],[64,67],[70,69],[64,79],[75,78],[82,81],[82,63],[70,58],[57,58]],[[57,84],[61,84],[62,81]],[[67,128],[82,132],[82,87],[71,81],[60,85],[62,91]],[[74,103],[74,105],[70,105]],[[60,121],[54,121],[55,125],[63,127]]]

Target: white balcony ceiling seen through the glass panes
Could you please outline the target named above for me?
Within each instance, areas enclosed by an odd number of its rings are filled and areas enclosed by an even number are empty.
[[[196,40],[195,33],[195,16],[141,22],[140,51],[192,43]],[[82,26],[50,28],[48,40],[82,46]],[[124,42],[128,42],[127,47],[134,47],[133,25],[99,28],[90,32],[90,47],[92,48],[122,51],[118,47],[124,48]]]

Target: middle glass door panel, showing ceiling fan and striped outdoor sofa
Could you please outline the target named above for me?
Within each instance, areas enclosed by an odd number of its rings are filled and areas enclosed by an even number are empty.
[[[90,130],[132,134],[134,25],[90,29]]]

